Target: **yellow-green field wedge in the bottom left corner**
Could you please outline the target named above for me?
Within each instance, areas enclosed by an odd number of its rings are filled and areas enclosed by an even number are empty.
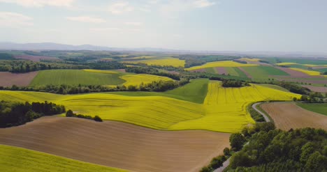
[[[41,153],[34,150],[0,145],[1,172],[34,172],[34,171],[124,171],[108,166],[100,166],[87,162],[80,162],[65,157]]]

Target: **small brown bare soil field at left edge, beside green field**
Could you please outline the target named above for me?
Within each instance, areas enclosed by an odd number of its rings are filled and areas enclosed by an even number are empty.
[[[0,72],[0,86],[28,86],[37,74],[38,71],[19,74]]]

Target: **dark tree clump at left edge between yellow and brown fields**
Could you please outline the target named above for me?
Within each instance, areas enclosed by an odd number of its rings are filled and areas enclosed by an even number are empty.
[[[61,114],[66,111],[62,105],[52,102],[0,102],[0,127],[11,127],[28,123],[41,116]]]

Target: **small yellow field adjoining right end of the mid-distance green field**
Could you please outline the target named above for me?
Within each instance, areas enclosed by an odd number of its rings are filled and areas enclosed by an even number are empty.
[[[147,74],[123,75],[120,78],[126,80],[123,84],[124,86],[139,86],[141,83],[150,84],[152,81],[173,81],[173,79],[168,77]]]

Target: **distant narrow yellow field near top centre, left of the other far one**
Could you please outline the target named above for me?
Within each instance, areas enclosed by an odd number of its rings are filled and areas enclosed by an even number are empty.
[[[172,65],[174,67],[184,67],[185,61],[178,58],[149,59],[142,61],[125,61],[126,63],[144,63],[147,65]]]

